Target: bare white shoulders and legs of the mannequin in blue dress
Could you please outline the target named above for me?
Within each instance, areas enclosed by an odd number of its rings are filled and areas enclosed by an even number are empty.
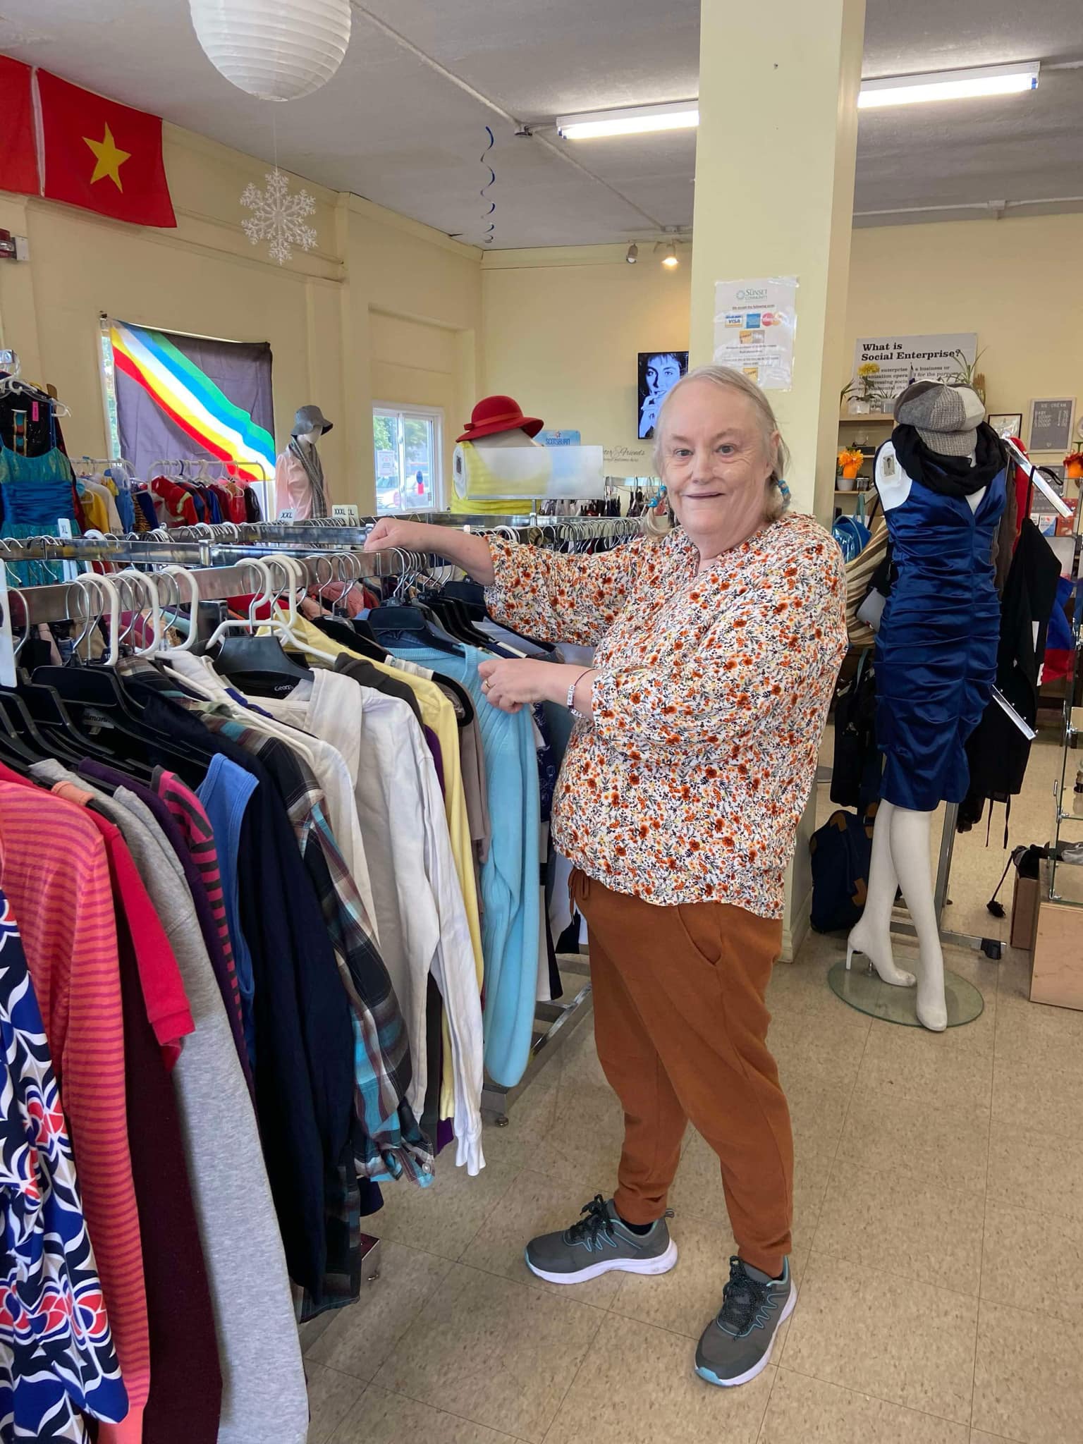
[[[911,479],[895,461],[890,442],[878,453],[875,481],[884,511],[901,507],[910,495]],[[972,511],[978,511],[986,490],[982,487],[966,498]],[[917,983],[918,1022],[931,1032],[943,1032],[947,1027],[947,1002],[944,953],[930,872],[931,830],[931,812],[913,812],[881,801],[872,830],[868,900],[861,921],[846,940],[846,967],[851,966],[853,953],[864,953],[885,983],[894,988],[913,988]],[[891,952],[891,910],[900,888],[917,933],[917,978],[898,967]]]

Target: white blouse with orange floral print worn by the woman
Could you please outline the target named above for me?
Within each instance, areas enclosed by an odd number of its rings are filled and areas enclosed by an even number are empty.
[[[812,517],[784,516],[706,572],[682,530],[598,556],[490,537],[494,618],[595,645],[553,842],[647,902],[783,915],[783,882],[846,651],[845,569]]]

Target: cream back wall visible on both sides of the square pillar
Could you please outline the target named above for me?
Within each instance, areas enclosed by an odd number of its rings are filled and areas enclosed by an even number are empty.
[[[976,331],[991,410],[1083,406],[1080,254],[1079,215],[853,231],[839,386],[859,335]],[[485,254],[485,390],[585,442],[635,446],[635,355],[687,347],[689,270],[664,271],[647,247],[635,266],[624,247]]]

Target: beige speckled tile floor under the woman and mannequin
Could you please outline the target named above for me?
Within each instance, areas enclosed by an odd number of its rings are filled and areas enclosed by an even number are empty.
[[[1056,755],[1038,751],[1012,842],[1044,836]],[[1002,866],[983,832],[960,839],[956,927],[995,936]],[[523,1265],[530,1235],[614,1183],[621,1112],[588,1019],[487,1131],[481,1177],[387,1190],[380,1279],[305,1330],[310,1444],[1083,1441],[1083,1014],[1030,1004],[1021,954],[954,950],[985,1012],[933,1037],[839,1002],[839,952],[813,937],[771,982],[800,1300],[757,1380],[692,1372],[734,1249],[692,1132],[671,1274],[556,1288]]]

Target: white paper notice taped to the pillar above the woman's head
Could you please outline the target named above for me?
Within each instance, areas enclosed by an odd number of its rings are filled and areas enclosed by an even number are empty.
[[[715,365],[742,371],[765,391],[788,391],[796,328],[796,276],[715,282]]]

